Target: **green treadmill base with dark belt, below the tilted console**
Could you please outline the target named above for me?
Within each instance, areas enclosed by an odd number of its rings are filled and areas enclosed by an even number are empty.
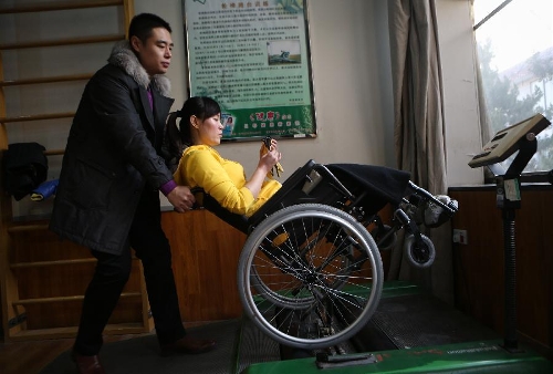
[[[254,363],[243,374],[547,373],[553,363],[404,281],[384,283],[380,304],[357,337],[364,351]]]

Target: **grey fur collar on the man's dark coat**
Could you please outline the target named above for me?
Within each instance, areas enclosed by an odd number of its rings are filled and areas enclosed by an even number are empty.
[[[117,42],[112,49],[112,54],[107,62],[111,64],[123,69],[128,75],[131,75],[136,83],[147,89],[150,83],[153,83],[157,90],[164,96],[169,96],[170,92],[170,81],[167,76],[163,74],[157,74],[152,77],[152,81],[146,73],[146,70],[138,62],[136,54],[131,49],[131,43],[127,40]]]

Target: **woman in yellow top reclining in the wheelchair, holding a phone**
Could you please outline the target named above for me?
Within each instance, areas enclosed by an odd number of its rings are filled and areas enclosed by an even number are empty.
[[[178,127],[177,118],[181,118]],[[247,179],[242,165],[213,149],[221,143],[220,120],[219,104],[210,97],[190,97],[180,111],[171,113],[167,123],[169,153],[177,159],[181,155],[174,178],[179,185],[204,188],[223,208],[249,217],[280,189],[279,181],[265,176],[282,155],[274,139],[269,152],[261,145],[258,166]]]

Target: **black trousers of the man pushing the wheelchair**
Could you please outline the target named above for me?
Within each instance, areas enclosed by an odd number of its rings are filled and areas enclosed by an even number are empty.
[[[102,333],[131,276],[131,248],[143,263],[159,344],[173,343],[186,335],[178,308],[169,241],[161,229],[157,191],[142,195],[128,243],[121,256],[92,251],[97,263],[84,295],[74,344],[74,350],[80,354],[95,355],[102,347]]]

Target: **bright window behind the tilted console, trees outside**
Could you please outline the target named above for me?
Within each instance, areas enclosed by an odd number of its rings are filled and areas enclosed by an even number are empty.
[[[536,113],[553,122],[553,1],[472,0],[472,9],[484,143]],[[551,169],[553,125],[538,136],[524,172]]]

